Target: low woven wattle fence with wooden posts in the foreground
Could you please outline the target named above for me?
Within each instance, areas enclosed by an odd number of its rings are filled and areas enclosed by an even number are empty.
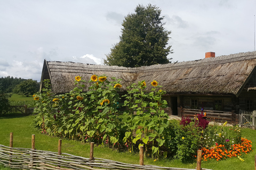
[[[58,152],[36,150],[35,135],[32,135],[31,149],[28,148],[13,148],[13,133],[10,133],[10,147],[0,145],[0,164],[6,167],[19,169],[177,169],[177,170],[192,170],[187,168],[160,167],[154,165],[143,164],[143,147],[140,148],[140,165],[125,164],[108,159],[94,158],[93,148],[94,143],[91,143],[90,158],[74,156],[66,153],[61,153],[61,140],[59,140]],[[202,150],[197,151],[197,167],[201,168]],[[211,170],[211,169],[204,169]]]

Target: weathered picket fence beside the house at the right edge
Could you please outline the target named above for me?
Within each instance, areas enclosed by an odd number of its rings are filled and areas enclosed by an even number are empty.
[[[256,125],[256,111],[247,112],[242,111],[239,115],[239,127],[241,128],[250,128],[255,130]]]

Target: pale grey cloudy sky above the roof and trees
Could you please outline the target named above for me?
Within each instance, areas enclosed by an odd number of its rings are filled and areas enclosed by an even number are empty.
[[[40,81],[43,61],[103,64],[124,17],[156,5],[175,61],[254,50],[255,0],[0,0],[0,77]]]

